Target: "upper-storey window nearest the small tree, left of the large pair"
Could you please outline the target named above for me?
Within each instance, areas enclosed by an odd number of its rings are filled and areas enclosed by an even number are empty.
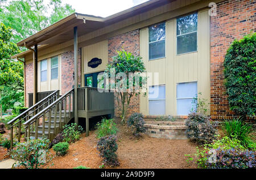
[[[149,60],[166,56],[166,23],[149,27]]]

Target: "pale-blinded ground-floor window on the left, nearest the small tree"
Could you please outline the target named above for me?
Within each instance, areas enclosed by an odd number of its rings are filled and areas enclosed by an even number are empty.
[[[148,106],[150,115],[166,114],[166,86],[154,85],[149,87]]]

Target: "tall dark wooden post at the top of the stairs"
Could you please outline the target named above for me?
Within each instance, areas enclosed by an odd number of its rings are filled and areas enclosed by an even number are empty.
[[[75,118],[75,123],[78,126],[78,117],[77,117],[77,52],[78,52],[78,42],[77,42],[77,27],[74,27],[74,72],[75,72],[75,83],[74,83],[74,89],[75,89],[75,94],[74,94],[74,118]]]

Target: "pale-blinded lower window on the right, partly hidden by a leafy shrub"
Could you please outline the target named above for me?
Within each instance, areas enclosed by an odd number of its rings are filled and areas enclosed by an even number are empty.
[[[177,84],[177,115],[187,115],[192,109],[193,97],[197,95],[197,82]]]

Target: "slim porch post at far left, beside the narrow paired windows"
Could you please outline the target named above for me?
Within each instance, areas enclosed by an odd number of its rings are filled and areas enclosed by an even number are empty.
[[[35,105],[38,102],[38,45],[35,45],[34,49],[34,58],[33,58],[33,66],[34,66],[34,93],[33,93],[33,104]]]

